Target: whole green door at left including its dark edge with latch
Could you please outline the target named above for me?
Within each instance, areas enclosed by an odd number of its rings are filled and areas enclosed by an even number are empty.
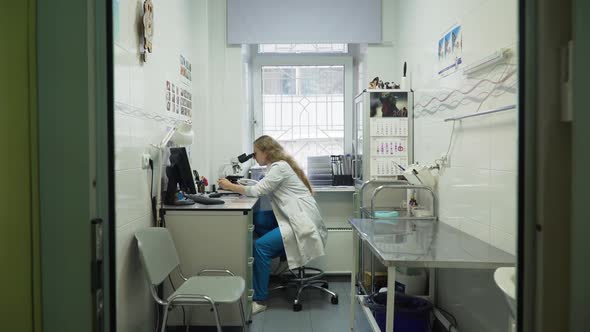
[[[109,331],[114,326],[110,1],[36,6],[43,331]]]

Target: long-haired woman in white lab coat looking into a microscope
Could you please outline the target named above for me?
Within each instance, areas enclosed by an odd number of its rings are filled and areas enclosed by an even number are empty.
[[[270,136],[254,141],[254,158],[261,166],[268,165],[266,176],[253,186],[219,180],[221,188],[247,196],[268,195],[278,227],[268,231],[254,243],[254,303],[252,313],[264,311],[268,297],[270,262],[283,252],[289,269],[305,265],[323,256],[328,231],[303,170],[283,147]]]

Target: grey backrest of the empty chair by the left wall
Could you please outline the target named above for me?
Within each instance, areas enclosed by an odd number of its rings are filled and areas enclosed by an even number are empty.
[[[163,227],[150,227],[135,233],[135,238],[148,281],[161,284],[180,265],[170,232]]]

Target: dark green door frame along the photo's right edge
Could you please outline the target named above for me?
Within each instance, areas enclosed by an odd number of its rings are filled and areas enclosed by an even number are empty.
[[[580,7],[580,0],[577,1]],[[571,169],[575,172],[586,166],[577,165],[576,160],[588,158],[583,151],[588,139],[578,142],[576,153],[575,128],[579,127],[581,138],[587,135],[584,130],[588,132],[588,129],[582,129],[576,118],[579,104],[574,104],[573,137],[572,123],[561,119],[560,53],[572,39],[572,16],[575,13],[581,18],[582,11],[574,9],[573,0],[520,0],[519,5],[523,61],[519,82],[519,331],[577,331],[572,320],[588,321],[588,315],[579,312],[587,307],[587,297],[583,304],[574,304],[577,290],[571,287],[572,280],[578,280],[578,287],[587,290],[586,274],[576,276],[576,270],[580,269],[577,265],[586,271],[588,268],[585,261],[576,264],[571,240],[578,236],[580,248],[588,247],[584,245],[588,243],[587,233],[576,231],[575,219],[576,204],[582,209],[577,211],[579,216],[587,215],[585,205],[590,187],[583,175],[574,180]],[[587,40],[583,34],[578,36],[578,42]],[[574,79],[579,76],[585,79],[579,73],[582,71],[575,68]],[[581,195],[576,195],[576,188],[581,189]],[[578,225],[579,230],[588,230],[587,219],[583,223]],[[586,252],[579,251],[581,255]],[[578,259],[584,260],[580,256]]]

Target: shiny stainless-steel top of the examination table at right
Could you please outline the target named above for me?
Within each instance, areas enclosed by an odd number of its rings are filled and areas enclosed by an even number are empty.
[[[348,222],[386,266],[493,269],[516,264],[513,255],[442,222]]]

